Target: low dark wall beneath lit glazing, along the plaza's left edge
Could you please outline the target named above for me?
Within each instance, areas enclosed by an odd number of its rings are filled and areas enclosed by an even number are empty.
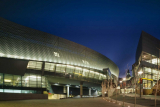
[[[29,100],[29,99],[48,99],[48,95],[47,94],[0,93],[0,101],[6,101],[6,100]]]

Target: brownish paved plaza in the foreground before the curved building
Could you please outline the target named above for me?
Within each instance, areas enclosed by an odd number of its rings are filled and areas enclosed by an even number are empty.
[[[0,101],[0,107],[121,107],[98,98],[70,98],[62,100]]]

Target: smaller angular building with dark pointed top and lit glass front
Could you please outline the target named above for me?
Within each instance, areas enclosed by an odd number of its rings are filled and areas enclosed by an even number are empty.
[[[159,75],[160,40],[142,31],[136,51],[136,62],[132,75],[143,79],[142,89],[152,89]]]

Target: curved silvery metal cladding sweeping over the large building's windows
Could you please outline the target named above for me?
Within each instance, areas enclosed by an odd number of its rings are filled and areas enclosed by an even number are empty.
[[[106,56],[75,42],[0,18],[0,56],[69,64],[97,70],[119,68]]]

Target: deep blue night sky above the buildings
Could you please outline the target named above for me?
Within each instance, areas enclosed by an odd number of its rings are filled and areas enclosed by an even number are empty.
[[[160,39],[160,0],[0,0],[0,17],[91,48],[124,77],[141,31]]]

